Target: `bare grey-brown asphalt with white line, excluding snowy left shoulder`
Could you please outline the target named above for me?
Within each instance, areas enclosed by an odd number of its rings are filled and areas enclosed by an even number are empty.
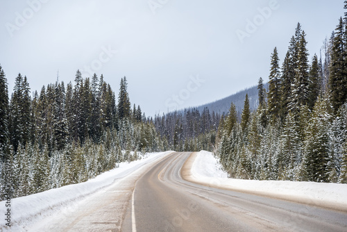
[[[136,182],[122,231],[347,231],[347,213],[185,181],[190,153],[156,163]]]

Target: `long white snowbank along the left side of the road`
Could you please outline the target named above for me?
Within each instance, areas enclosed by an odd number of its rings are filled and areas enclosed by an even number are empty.
[[[18,228],[18,225],[22,227],[30,224],[32,221],[36,221],[37,217],[42,218],[44,215],[49,215],[53,211],[59,210],[62,206],[67,206],[71,201],[83,199],[83,197],[112,185],[112,183],[119,181],[147,163],[163,158],[171,152],[146,154],[142,160],[136,160],[131,163],[120,163],[119,167],[100,174],[96,178],[84,183],[66,185],[62,188],[11,199],[10,212],[12,226],[10,229]],[[0,202],[1,215],[5,215],[6,213],[5,203],[5,201]],[[5,226],[5,216],[3,216],[3,219],[0,219],[0,231],[9,229],[8,226]]]

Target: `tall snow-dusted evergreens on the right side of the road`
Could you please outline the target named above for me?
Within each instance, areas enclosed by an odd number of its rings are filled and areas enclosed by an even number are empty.
[[[257,110],[246,96],[242,119],[232,104],[221,121],[215,153],[230,177],[347,183],[347,14],[325,40],[323,60],[309,64],[306,44],[298,24],[282,67],[273,50]]]

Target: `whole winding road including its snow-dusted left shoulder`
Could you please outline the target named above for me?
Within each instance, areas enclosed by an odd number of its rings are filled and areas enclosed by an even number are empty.
[[[192,157],[163,156],[24,231],[347,231],[346,212],[186,181]]]

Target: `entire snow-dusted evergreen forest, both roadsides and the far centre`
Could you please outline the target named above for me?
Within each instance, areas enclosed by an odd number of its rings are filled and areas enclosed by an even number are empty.
[[[146,117],[127,88],[125,76],[116,94],[102,74],[77,71],[74,82],[31,92],[18,74],[9,95],[0,66],[1,200],[81,183],[167,150],[213,151],[230,178],[347,183],[347,13],[319,56],[310,57],[301,24],[282,62],[273,49],[256,110],[246,95],[242,112],[231,103],[227,115],[188,108]]]

